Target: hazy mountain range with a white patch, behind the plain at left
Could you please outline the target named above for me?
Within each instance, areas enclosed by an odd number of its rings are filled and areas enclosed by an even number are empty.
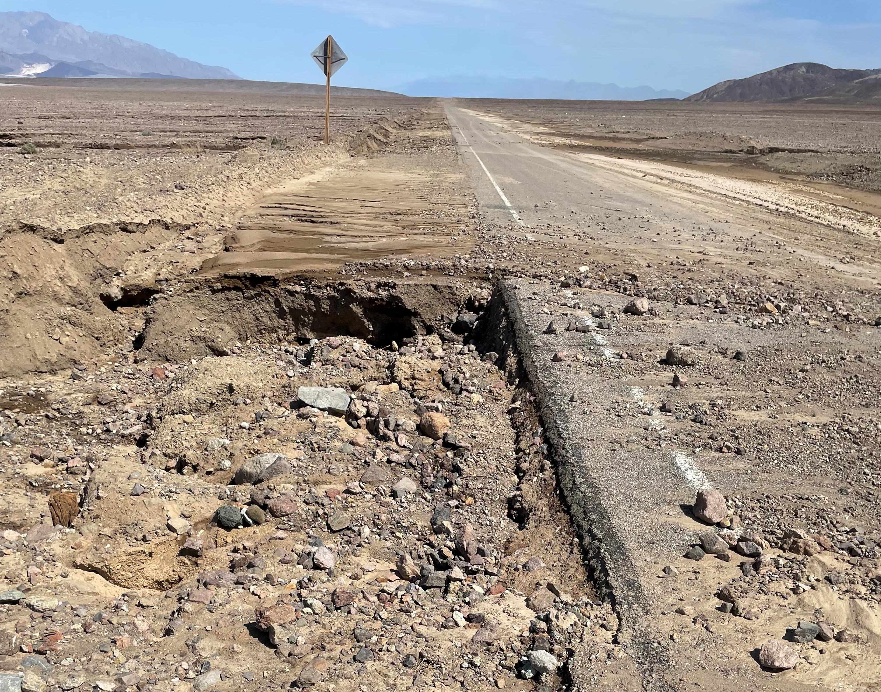
[[[86,31],[44,12],[0,12],[0,74],[16,77],[239,79],[167,50]]]

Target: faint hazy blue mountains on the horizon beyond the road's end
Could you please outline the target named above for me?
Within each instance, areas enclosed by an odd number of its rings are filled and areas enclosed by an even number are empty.
[[[597,82],[561,82],[552,79],[507,77],[429,77],[396,87],[407,96],[442,96],[461,99],[591,99],[643,101],[683,99],[688,92],[655,90],[650,86],[603,85]]]

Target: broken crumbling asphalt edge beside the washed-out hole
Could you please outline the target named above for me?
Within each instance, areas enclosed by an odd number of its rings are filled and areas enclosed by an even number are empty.
[[[536,398],[559,480],[562,500],[579,534],[585,566],[597,593],[609,600],[618,615],[617,643],[625,647],[639,666],[646,688],[664,692],[672,689],[663,681],[670,660],[656,635],[648,627],[648,594],[640,582],[630,552],[622,539],[603,493],[593,480],[584,448],[572,434],[571,403],[564,392],[545,386],[536,357],[541,350],[530,333],[512,286],[514,280],[500,278],[494,288],[485,334],[508,362],[508,372],[519,372],[520,384]],[[515,359],[515,364],[510,358]],[[524,382],[525,380],[525,382]]]

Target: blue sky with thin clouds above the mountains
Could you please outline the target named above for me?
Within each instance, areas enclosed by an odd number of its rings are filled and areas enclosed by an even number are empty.
[[[881,68],[881,0],[4,0],[119,33],[241,77],[335,84],[546,77],[700,91],[782,64]]]

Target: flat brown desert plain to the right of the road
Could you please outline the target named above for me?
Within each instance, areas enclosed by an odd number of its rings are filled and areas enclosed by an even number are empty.
[[[456,99],[510,118],[540,144],[669,162],[815,194],[878,214],[881,111],[803,104]]]

